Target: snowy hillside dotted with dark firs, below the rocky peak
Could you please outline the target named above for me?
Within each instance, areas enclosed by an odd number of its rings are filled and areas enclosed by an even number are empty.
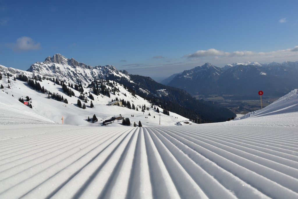
[[[5,67],[1,67],[2,70]],[[5,69],[7,74],[8,68]],[[15,71],[16,74],[20,75],[21,71]],[[36,73],[32,72],[23,72],[25,75],[34,77]],[[80,87],[83,91],[75,90],[75,86],[68,87],[74,95],[69,95],[67,92],[63,92],[63,87],[60,85],[60,81],[57,83],[51,79],[41,79],[41,81],[35,81],[36,84],[43,87],[47,92],[38,91],[37,88],[32,88],[26,81],[21,81],[18,79],[14,80],[14,75],[12,77],[4,75],[4,72],[1,72],[2,79],[0,79],[0,84],[3,88],[0,90],[0,99],[1,99],[1,113],[0,114],[0,124],[27,124],[35,122],[41,124],[71,124],[79,126],[103,126],[103,121],[111,119],[115,115],[121,114],[123,118],[129,118],[131,125],[136,122],[136,124],[141,121],[144,126],[155,126],[159,125],[159,112],[157,112],[152,104],[145,100],[144,98],[133,95],[131,92],[125,88],[124,85],[120,85],[114,81],[105,81],[102,80],[102,84],[99,83],[99,86],[102,85],[106,90],[110,90],[110,97],[103,95],[101,92],[98,95],[95,95],[92,87]],[[10,74],[10,73],[9,73]],[[34,79],[33,79],[34,80]],[[74,84],[72,81],[68,83]],[[68,84],[67,82],[65,84]],[[100,89],[99,89],[100,90]],[[114,92],[111,92],[113,90]],[[51,94],[49,94],[51,92]],[[52,94],[59,95],[63,99],[67,99],[67,103],[63,100],[55,100],[52,98]],[[93,96],[94,100],[90,96]],[[19,98],[26,100],[26,96],[30,98],[30,103],[32,109],[22,104],[18,101]],[[79,96],[82,96],[79,98]],[[82,99],[83,98],[83,99]],[[138,109],[129,109],[122,106],[108,106],[112,100],[123,100],[125,102],[130,102],[131,106],[134,106]],[[86,109],[78,107],[77,102],[81,101],[82,105],[86,105]],[[94,108],[91,108],[91,101],[94,105]],[[144,112],[141,112],[142,106],[148,109],[144,109]],[[162,113],[163,108],[158,107],[159,111]],[[150,113],[150,115],[149,115]],[[98,122],[92,123],[93,115],[96,115]],[[87,119],[91,118],[91,121],[88,122]],[[185,121],[188,118],[182,117],[176,113],[170,112],[169,115],[161,115],[161,124],[163,125],[173,125],[179,121]],[[122,126],[122,120],[113,122],[109,126]]]

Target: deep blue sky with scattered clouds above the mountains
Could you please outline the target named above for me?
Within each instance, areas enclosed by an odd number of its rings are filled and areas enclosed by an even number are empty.
[[[56,53],[162,78],[209,62],[298,61],[298,1],[0,0],[0,64]]]

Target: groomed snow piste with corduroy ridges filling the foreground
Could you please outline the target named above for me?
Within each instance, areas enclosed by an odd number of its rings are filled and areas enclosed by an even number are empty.
[[[297,90],[283,99],[214,124],[0,125],[0,198],[298,198]]]

